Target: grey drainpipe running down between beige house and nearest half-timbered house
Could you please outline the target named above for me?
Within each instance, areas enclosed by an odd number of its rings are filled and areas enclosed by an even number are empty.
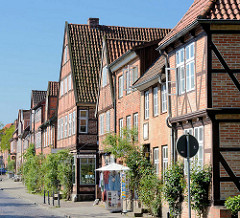
[[[168,67],[168,55],[165,52],[160,51],[160,55],[163,55],[165,57],[165,66]],[[166,75],[167,76],[167,75]],[[168,84],[166,84],[168,85]],[[168,95],[168,117],[166,118],[166,125],[168,128],[171,129],[170,131],[170,143],[171,143],[171,162],[176,162],[176,149],[175,149],[175,136],[176,136],[176,129],[171,125],[170,118],[172,117],[172,110],[171,110],[171,96]]]

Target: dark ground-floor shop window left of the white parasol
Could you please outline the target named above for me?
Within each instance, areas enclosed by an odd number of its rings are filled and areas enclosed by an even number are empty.
[[[95,184],[95,158],[80,158],[80,185]]]

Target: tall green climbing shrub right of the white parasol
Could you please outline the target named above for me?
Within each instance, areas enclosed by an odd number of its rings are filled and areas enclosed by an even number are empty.
[[[123,129],[122,137],[114,134],[107,135],[104,144],[105,151],[121,158],[130,168],[127,175],[131,192],[138,195],[141,202],[149,211],[158,216],[161,209],[161,184],[154,168],[145,157],[144,152],[136,145],[136,129]]]

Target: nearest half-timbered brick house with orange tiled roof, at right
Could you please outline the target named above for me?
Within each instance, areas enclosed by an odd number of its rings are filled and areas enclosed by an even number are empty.
[[[212,167],[208,216],[214,217],[240,191],[239,18],[236,2],[195,0],[158,47],[167,63],[171,147],[184,133],[198,139],[195,162]],[[172,155],[180,159],[176,149]]]

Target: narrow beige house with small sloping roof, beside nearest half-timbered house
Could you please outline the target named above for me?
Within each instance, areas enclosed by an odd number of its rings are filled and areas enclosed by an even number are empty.
[[[168,117],[165,58],[158,57],[152,66],[134,83],[140,93],[139,141],[162,177],[171,161],[171,131],[167,128]]]

